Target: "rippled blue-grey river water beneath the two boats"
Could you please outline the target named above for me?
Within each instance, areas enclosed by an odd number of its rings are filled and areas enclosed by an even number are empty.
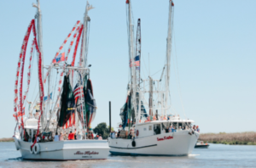
[[[183,157],[112,156],[108,160],[28,161],[22,160],[15,143],[0,143],[0,167],[256,167],[256,146],[210,144],[195,148]]]

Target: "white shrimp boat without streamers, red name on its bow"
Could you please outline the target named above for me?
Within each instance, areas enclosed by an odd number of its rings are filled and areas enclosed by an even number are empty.
[[[118,138],[108,137],[111,154],[188,155],[195,147],[199,132],[194,132],[191,128],[194,120],[182,120],[179,115],[167,114],[171,109],[169,81],[173,8],[174,3],[170,0],[166,64],[160,80],[154,80],[152,76],[143,80],[140,76],[141,20],[137,21],[136,48],[134,48],[131,0],[126,0],[131,80],[127,87],[126,103],[120,110],[122,122],[119,124],[119,129],[122,130]],[[165,80],[162,80],[164,74]]]

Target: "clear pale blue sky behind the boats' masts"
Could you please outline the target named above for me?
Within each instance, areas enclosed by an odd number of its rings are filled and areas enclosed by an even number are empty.
[[[15,128],[15,71],[26,28],[36,13],[32,3],[36,0],[0,1],[0,137],[12,137]],[[83,20],[85,3],[41,0],[44,64],[53,59],[75,22]],[[156,79],[164,66],[168,3],[132,1],[135,22],[142,20],[144,79],[149,73],[148,64],[151,75],[158,72],[153,76]],[[174,3],[170,81],[173,109],[195,120],[201,132],[256,131],[256,1]],[[125,0],[90,0],[90,4],[95,8],[89,13],[88,62],[92,64],[90,78],[98,107],[92,127],[103,121],[108,124],[111,101],[112,126],[116,129],[119,109],[125,103],[129,69]],[[27,53],[29,48],[30,44]],[[27,66],[26,61],[25,70]],[[36,66],[32,73],[36,75]],[[25,90],[26,79],[24,85]],[[35,86],[32,83],[29,98]]]

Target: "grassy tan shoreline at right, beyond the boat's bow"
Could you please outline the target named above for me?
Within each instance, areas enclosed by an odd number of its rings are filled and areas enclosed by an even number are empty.
[[[256,132],[202,133],[198,140],[229,145],[256,145]]]

